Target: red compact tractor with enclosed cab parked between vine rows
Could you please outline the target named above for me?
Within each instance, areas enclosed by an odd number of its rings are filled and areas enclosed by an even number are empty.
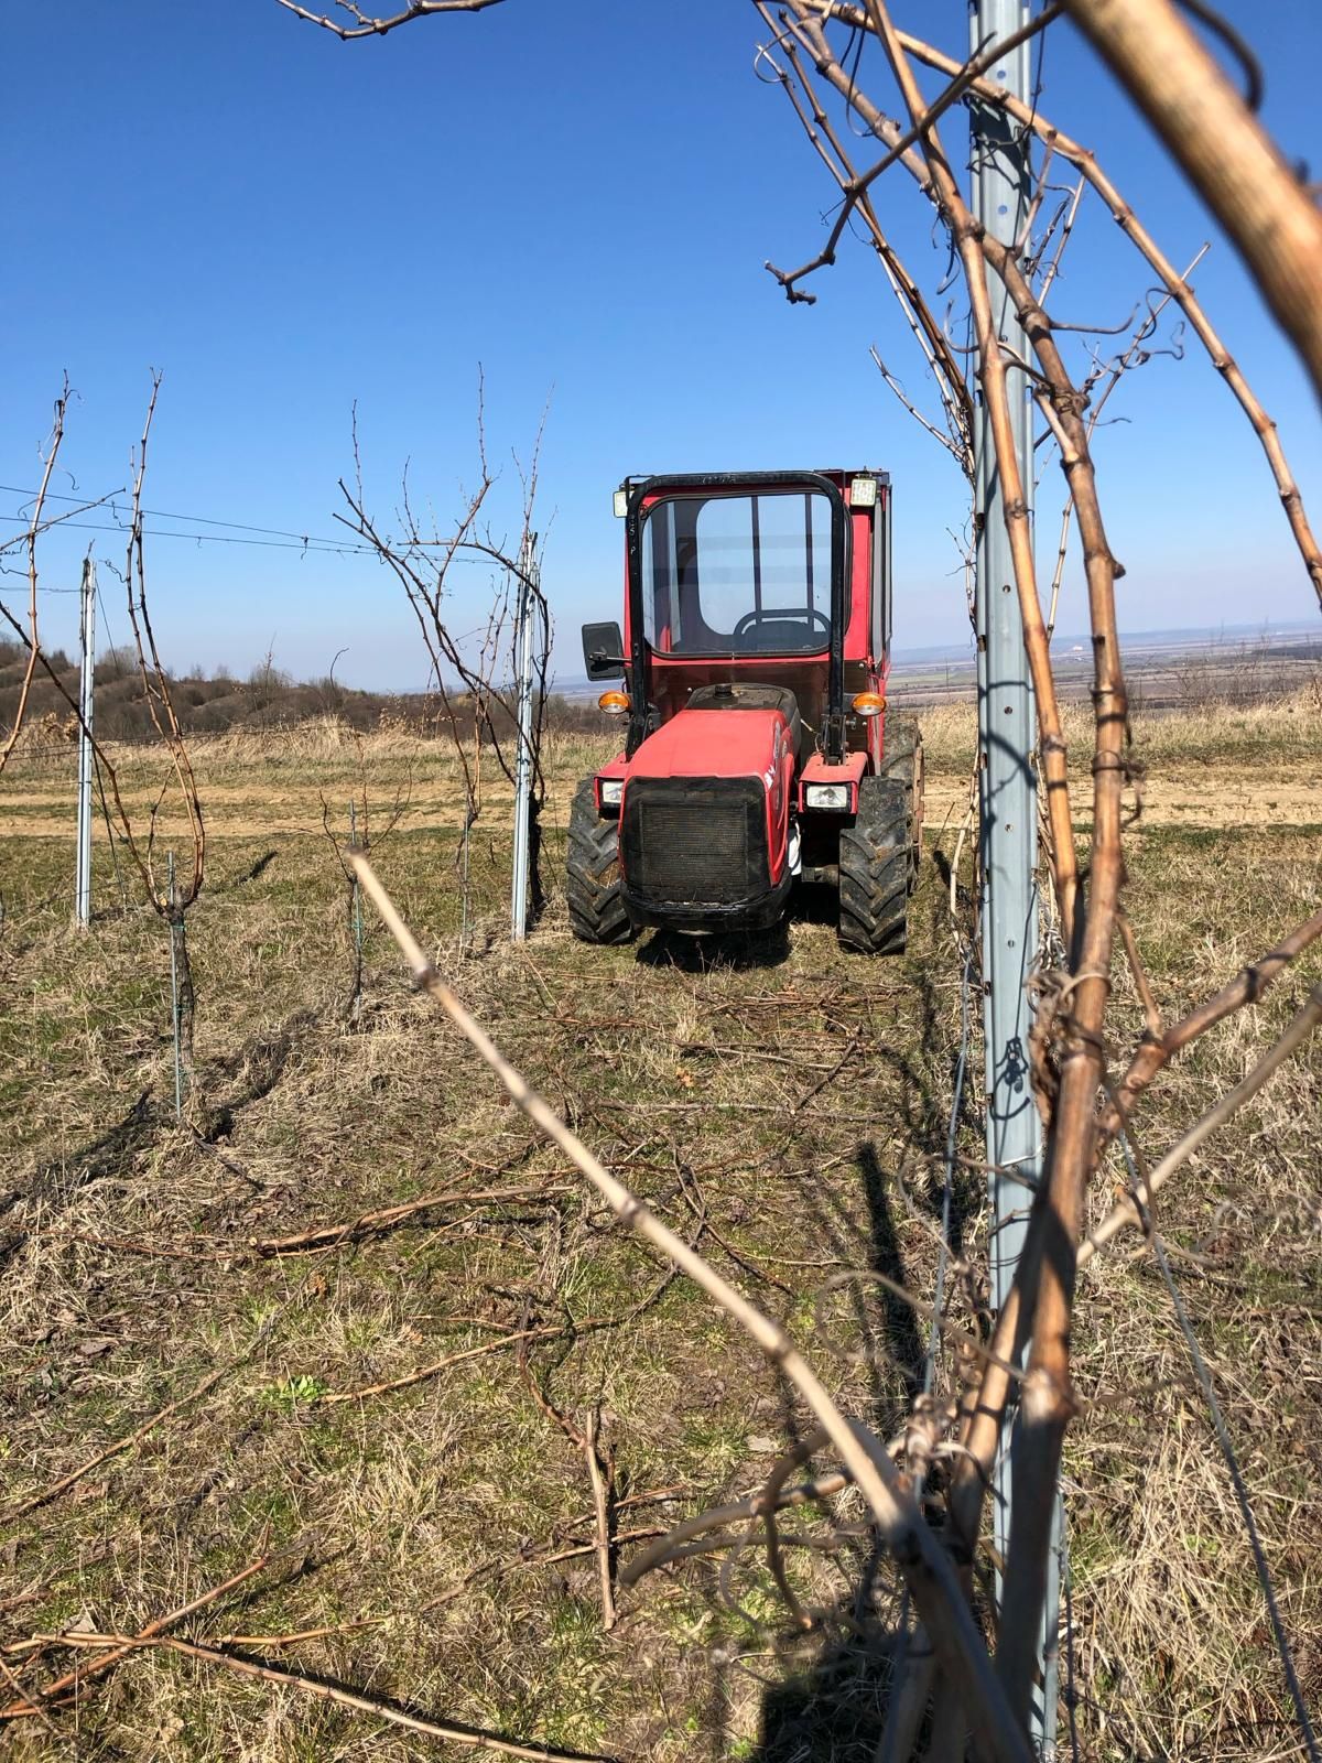
[[[626,606],[583,626],[624,751],[569,818],[575,936],[758,929],[795,882],[839,934],[904,948],[922,852],[917,725],[887,714],[890,480],[874,471],[628,478]]]

